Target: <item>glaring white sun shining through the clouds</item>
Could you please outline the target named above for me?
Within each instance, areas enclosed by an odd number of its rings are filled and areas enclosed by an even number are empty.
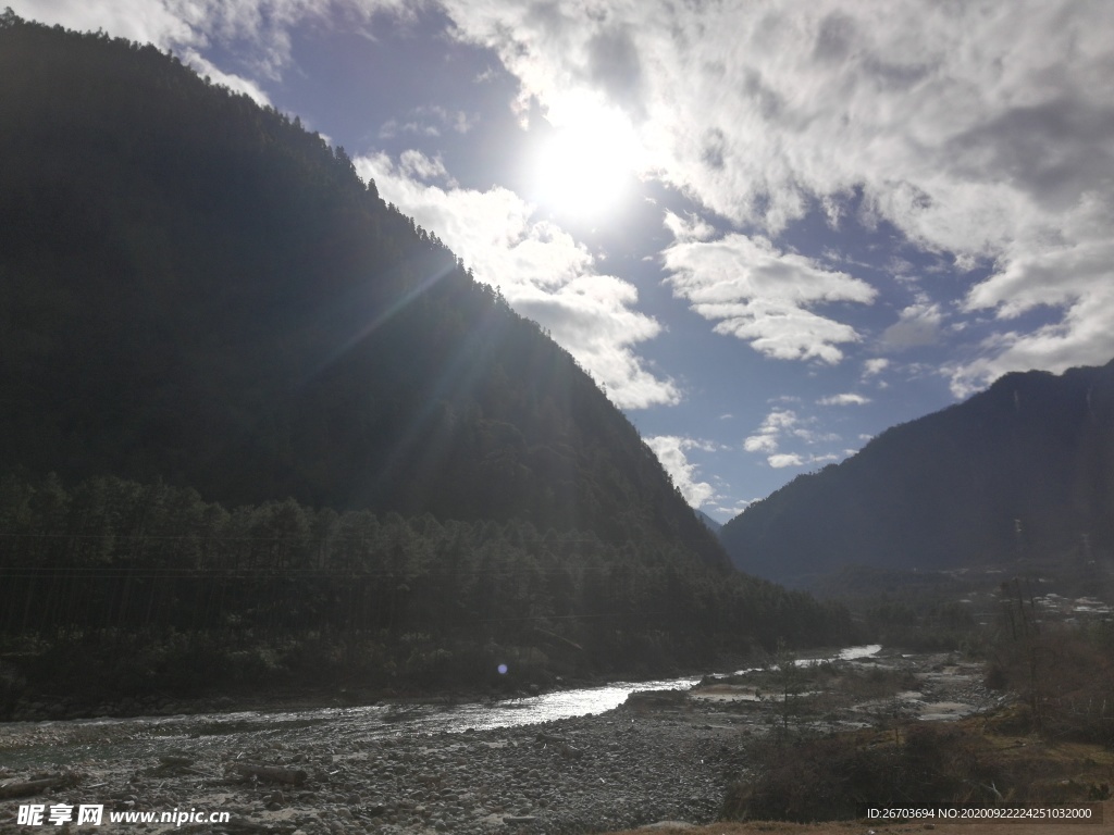
[[[537,148],[536,198],[557,215],[598,220],[629,194],[638,156],[635,131],[622,114],[578,108]]]

